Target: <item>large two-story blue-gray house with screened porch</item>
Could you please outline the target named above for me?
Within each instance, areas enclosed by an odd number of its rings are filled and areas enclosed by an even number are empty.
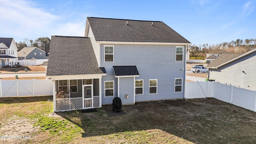
[[[189,44],[160,21],[88,17],[85,37],[52,36],[54,111],[184,98]]]

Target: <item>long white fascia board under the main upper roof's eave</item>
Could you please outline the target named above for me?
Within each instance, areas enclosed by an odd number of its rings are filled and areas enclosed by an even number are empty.
[[[96,41],[99,44],[138,44],[138,45],[190,45],[191,43],[176,43],[176,42],[109,42],[109,41]]]

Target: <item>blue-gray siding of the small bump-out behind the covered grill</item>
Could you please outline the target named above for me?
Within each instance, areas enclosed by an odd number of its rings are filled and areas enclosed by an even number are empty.
[[[129,94],[128,98],[124,98],[124,94]],[[134,77],[119,78],[119,97],[122,104],[134,103]]]

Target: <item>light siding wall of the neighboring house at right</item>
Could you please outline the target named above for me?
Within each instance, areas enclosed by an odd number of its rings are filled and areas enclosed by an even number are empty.
[[[256,90],[256,52],[234,60],[218,69],[209,69],[209,78],[222,84],[231,84]],[[244,71],[246,74],[244,74]],[[249,87],[247,86],[249,85]]]

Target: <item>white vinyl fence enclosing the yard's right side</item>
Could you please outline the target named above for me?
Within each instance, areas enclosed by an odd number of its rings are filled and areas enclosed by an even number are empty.
[[[256,112],[256,91],[217,82],[186,82],[185,98],[216,98]]]

